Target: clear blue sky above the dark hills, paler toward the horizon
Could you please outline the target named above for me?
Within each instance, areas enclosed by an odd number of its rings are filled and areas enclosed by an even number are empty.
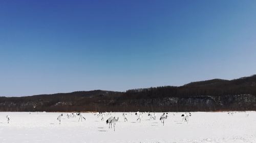
[[[253,0],[0,2],[0,96],[253,74]]]

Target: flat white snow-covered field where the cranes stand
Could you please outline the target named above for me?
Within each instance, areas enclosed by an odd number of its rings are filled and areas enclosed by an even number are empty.
[[[93,113],[82,113],[86,122],[63,113],[59,125],[61,113],[0,112],[0,142],[256,142],[256,112],[247,113],[248,117],[245,112],[191,112],[186,124],[181,122],[184,113],[170,112],[164,126],[162,113],[155,121],[143,114],[141,123],[135,113],[127,113],[128,122],[122,113],[112,113],[119,117],[114,132],[105,123],[108,117],[102,122]]]

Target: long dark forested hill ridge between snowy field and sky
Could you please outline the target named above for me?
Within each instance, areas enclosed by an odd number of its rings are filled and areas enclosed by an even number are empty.
[[[183,86],[76,91],[0,97],[0,111],[221,111],[256,110],[256,75]]]

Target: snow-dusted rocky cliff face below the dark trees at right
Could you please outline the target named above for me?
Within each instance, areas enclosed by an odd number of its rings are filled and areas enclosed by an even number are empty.
[[[254,110],[256,96],[251,94],[226,96],[167,97],[117,102],[120,106],[166,107],[168,111],[217,111],[217,110]],[[159,111],[159,110],[158,110]]]

